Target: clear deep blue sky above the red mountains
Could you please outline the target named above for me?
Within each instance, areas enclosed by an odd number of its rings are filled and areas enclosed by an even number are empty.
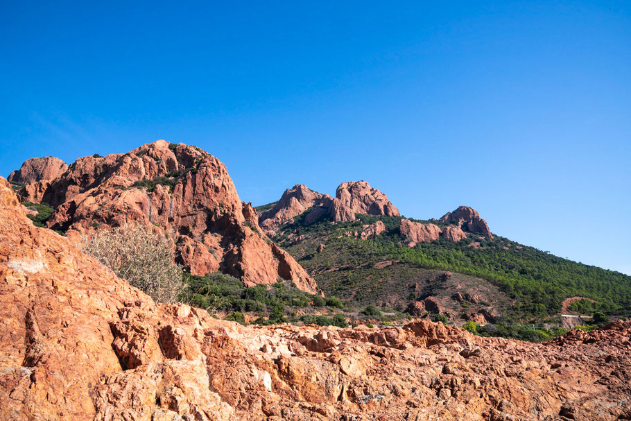
[[[3,1],[0,174],[183,141],[631,273],[629,1],[219,3]]]

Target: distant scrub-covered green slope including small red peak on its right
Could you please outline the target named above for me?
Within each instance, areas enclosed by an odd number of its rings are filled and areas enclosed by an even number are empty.
[[[479,313],[487,319],[553,318],[562,301],[574,296],[595,300],[591,311],[631,313],[630,276],[493,236],[471,208],[460,207],[440,221],[356,214],[355,221],[334,222],[324,216],[311,223],[311,212],[279,225],[273,240],[327,295],[399,309],[416,305],[465,319]],[[402,232],[408,224],[429,234],[410,241],[410,234]],[[462,234],[452,237],[454,230]],[[467,300],[467,293],[476,295],[476,302]],[[421,303],[426,298],[430,307],[436,302],[441,308],[428,309]]]

